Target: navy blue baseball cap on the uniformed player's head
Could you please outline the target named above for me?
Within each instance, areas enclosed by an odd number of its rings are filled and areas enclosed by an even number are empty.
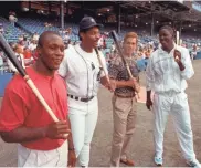
[[[103,27],[103,24],[97,24],[94,18],[92,17],[84,17],[80,22],[80,30],[89,29],[93,27]]]

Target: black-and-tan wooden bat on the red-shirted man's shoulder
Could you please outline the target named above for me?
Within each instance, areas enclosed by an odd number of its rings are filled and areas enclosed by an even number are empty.
[[[15,66],[15,69],[19,71],[19,73],[22,75],[22,77],[25,80],[27,84],[30,86],[30,88],[33,91],[40,103],[43,105],[43,107],[46,109],[49,115],[52,117],[54,122],[59,122],[57,117],[53,113],[53,111],[50,108],[39,90],[35,87],[33,81],[30,78],[30,76],[27,74],[25,70],[22,67],[20,62],[18,61],[14,52],[12,51],[11,46],[8,44],[3,35],[0,33],[0,46],[9,57],[9,60],[12,62],[12,64]],[[65,135],[67,136],[67,135]]]

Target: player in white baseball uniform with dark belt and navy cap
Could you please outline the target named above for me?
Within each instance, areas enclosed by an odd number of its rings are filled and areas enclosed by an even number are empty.
[[[108,86],[100,69],[95,48],[99,40],[99,24],[91,17],[80,22],[81,44],[65,50],[59,73],[65,80],[68,96],[68,113],[75,153],[80,166],[89,162],[89,146],[98,116],[97,91],[99,83]],[[104,55],[100,60],[106,69]]]

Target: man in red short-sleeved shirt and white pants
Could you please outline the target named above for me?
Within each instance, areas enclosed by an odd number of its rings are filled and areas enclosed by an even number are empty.
[[[46,31],[41,34],[36,50],[39,59],[27,73],[60,122],[53,122],[25,81],[15,75],[2,101],[0,135],[7,143],[19,143],[19,167],[65,167],[67,160],[75,166],[66,86],[56,73],[64,56],[64,43],[57,33]]]

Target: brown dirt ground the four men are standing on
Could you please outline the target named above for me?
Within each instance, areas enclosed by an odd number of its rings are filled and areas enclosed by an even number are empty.
[[[190,80],[187,93],[191,111],[192,129],[194,135],[194,150],[197,158],[201,161],[201,61],[194,61],[193,67],[195,75]],[[145,75],[141,74],[141,81],[145,83]],[[112,94],[104,88],[99,92],[99,116],[97,127],[94,134],[91,153],[92,167],[108,167],[110,157],[110,144],[113,134],[112,118]],[[0,101],[1,102],[1,101]],[[146,109],[145,104],[138,104],[138,117],[136,133],[130,147],[130,158],[135,160],[137,167],[154,167],[154,138],[151,112]],[[17,166],[17,146],[14,144],[4,144],[0,139],[0,166]],[[180,153],[179,143],[173,129],[171,117],[165,134],[165,155],[163,166],[166,167],[186,167],[186,162]]]

